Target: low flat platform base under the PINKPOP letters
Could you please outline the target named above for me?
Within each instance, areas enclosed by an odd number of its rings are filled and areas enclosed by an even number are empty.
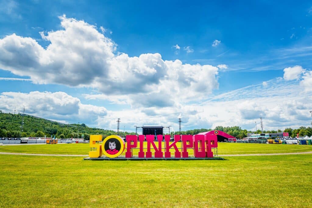
[[[84,160],[224,160],[223,157],[85,157]]]

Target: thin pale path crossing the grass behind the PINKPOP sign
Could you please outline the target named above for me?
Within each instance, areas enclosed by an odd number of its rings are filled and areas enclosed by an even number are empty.
[[[311,152],[267,153],[267,154],[218,155],[218,157],[270,156],[270,155],[300,155],[300,154],[312,154],[312,151],[311,151]],[[0,152],[0,155],[31,155],[31,156],[89,157],[89,155],[32,154],[32,153],[13,153],[13,152]]]

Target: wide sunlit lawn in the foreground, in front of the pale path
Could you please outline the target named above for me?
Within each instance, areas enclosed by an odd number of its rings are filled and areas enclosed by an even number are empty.
[[[0,155],[0,207],[312,207],[312,155],[226,158]]]

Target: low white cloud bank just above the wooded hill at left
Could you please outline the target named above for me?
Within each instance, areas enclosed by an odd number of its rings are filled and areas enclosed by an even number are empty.
[[[95,125],[99,118],[107,114],[106,108],[82,104],[80,99],[65,92],[2,92],[0,100],[0,109],[4,112],[12,112],[13,106],[22,112],[25,106],[26,114],[46,119],[66,120],[69,123],[83,120],[90,125]]]

